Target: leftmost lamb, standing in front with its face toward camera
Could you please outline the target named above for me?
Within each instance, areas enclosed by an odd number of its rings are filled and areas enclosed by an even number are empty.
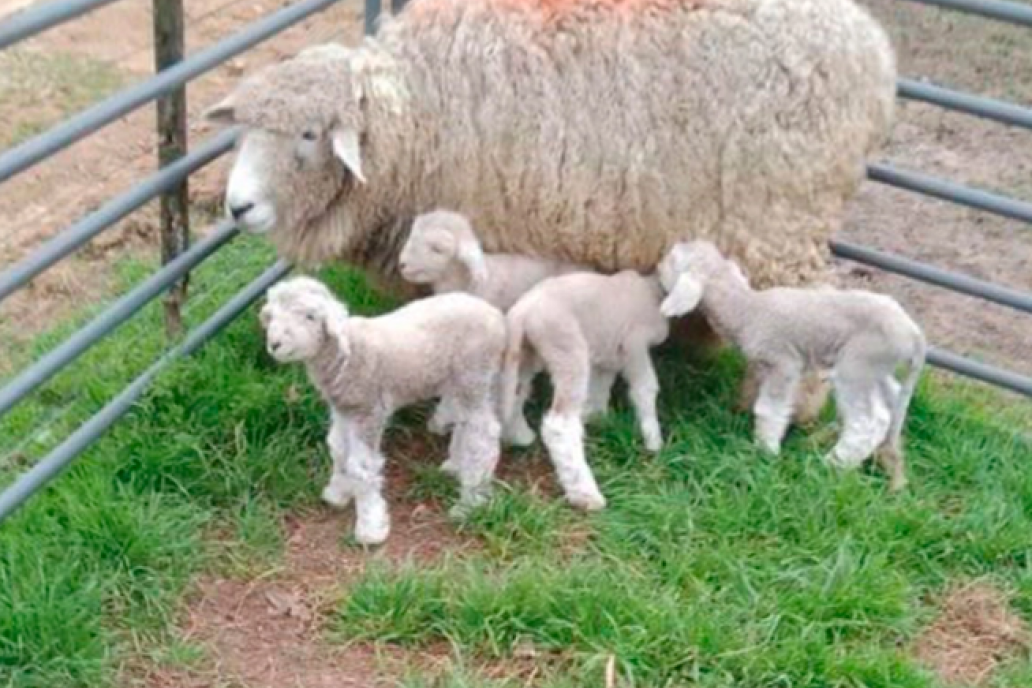
[[[393,413],[434,396],[452,400],[455,428],[446,466],[458,474],[461,516],[483,502],[498,460],[495,378],[505,318],[467,294],[419,299],[377,318],[350,316],[322,283],[299,276],[269,289],[260,312],[268,353],[300,361],[330,407],[333,471],[322,498],[355,501],[355,539],[386,540],[385,457],[380,443]]]

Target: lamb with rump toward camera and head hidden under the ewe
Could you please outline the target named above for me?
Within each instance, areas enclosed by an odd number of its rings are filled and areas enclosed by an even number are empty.
[[[659,313],[663,297],[654,275],[574,272],[538,284],[506,315],[502,417],[512,418],[525,402],[530,379],[546,368],[553,393],[542,439],[574,506],[606,505],[584,457],[583,419],[607,403],[617,374],[627,383],[646,449],[663,446],[655,412],[659,384],[649,357],[649,349],[669,334]]]

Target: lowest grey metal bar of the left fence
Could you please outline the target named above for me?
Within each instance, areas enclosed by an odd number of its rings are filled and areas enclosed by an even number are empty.
[[[174,360],[194,353],[208,339],[254,303],[266,289],[290,271],[290,265],[278,261],[257,280],[227,301],[214,316],[190,332],[178,347],[155,361],[151,367],[130,383],[118,396],[93,415],[75,432],[68,436],[32,468],[23,473],[13,485],[0,494],[0,522],[3,522],[29,497],[64,470],[79,454],[95,443],[111,425],[125,416],[147,391],[154,379]]]

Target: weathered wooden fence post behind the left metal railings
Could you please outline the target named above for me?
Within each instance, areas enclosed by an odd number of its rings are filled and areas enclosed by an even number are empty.
[[[154,68],[160,72],[183,60],[183,0],[153,0]],[[158,165],[165,167],[187,153],[186,85],[158,99]],[[161,195],[161,263],[173,260],[190,247],[190,187],[187,178]],[[189,273],[165,296],[165,333],[183,331],[183,302]]]

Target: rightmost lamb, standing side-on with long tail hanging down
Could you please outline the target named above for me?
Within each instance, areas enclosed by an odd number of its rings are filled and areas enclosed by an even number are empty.
[[[903,424],[925,365],[922,329],[894,299],[862,290],[755,291],[713,243],[676,243],[657,268],[675,317],[699,307],[756,375],[755,436],[778,454],[795,392],[809,368],[831,371],[842,432],[826,460],[854,468],[877,452],[890,489],[906,486]],[[896,369],[903,364],[902,385]]]

